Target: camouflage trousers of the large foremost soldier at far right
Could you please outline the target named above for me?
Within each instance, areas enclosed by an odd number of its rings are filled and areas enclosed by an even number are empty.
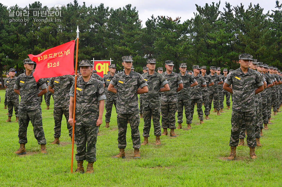
[[[229,146],[238,146],[239,134],[242,129],[242,125],[245,125],[247,130],[247,143],[249,147],[257,146],[255,131],[254,131],[254,116],[256,111],[239,112],[232,111],[231,116],[231,136],[229,141]]]

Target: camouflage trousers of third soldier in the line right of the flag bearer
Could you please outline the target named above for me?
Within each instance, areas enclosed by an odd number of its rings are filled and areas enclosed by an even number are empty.
[[[176,129],[175,127],[176,110],[177,110],[177,102],[161,101],[162,128]]]

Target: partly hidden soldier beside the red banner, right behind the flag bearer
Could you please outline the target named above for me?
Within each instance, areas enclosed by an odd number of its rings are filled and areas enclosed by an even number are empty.
[[[106,108],[105,122],[106,122],[106,125],[105,125],[105,128],[110,127],[110,119],[111,119],[111,115],[112,115],[112,105],[113,104],[114,104],[114,106],[116,108],[116,112],[117,112],[117,94],[114,94],[114,93],[108,91],[108,86],[110,85],[110,81],[112,81],[112,79],[116,75],[116,69],[117,69],[117,67],[115,66],[115,64],[111,64],[109,66],[110,72],[107,75],[104,76],[105,94],[106,94],[106,104],[105,104],[105,108]]]

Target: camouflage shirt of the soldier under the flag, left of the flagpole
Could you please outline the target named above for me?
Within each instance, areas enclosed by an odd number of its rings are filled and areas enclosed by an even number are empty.
[[[71,75],[57,76],[50,78],[48,86],[54,89],[54,108],[68,107],[70,105],[70,87],[74,84],[74,77]]]

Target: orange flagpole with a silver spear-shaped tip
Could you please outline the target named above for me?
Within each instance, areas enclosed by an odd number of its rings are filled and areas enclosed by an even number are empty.
[[[72,127],[72,140],[71,140],[70,173],[72,173],[72,166],[73,166],[73,146],[74,146],[74,130],[75,130],[75,117],[76,117],[76,79],[77,79],[78,39],[79,39],[79,30],[77,26],[77,29],[76,29],[76,71],[75,71],[75,87],[74,87],[74,103],[73,103],[73,127]]]

